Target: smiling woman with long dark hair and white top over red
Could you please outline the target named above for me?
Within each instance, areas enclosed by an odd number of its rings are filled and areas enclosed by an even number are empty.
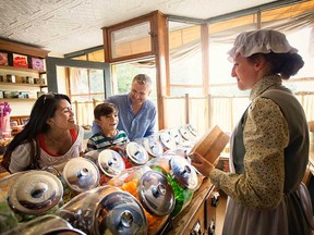
[[[7,147],[2,165],[11,173],[44,166],[62,166],[82,153],[84,129],[74,123],[70,98],[40,96],[29,121]]]

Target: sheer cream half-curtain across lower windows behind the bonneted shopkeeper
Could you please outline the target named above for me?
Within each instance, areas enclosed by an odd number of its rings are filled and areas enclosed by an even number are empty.
[[[314,121],[314,92],[299,94],[297,99],[304,109],[307,122]],[[189,102],[189,113],[185,110]],[[188,123],[202,135],[214,125],[231,133],[250,104],[249,97],[164,97],[165,128],[177,128]],[[208,114],[209,112],[209,114]]]

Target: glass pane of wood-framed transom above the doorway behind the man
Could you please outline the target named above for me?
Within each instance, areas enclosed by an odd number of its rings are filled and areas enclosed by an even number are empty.
[[[143,22],[111,33],[112,59],[152,51],[150,23]]]

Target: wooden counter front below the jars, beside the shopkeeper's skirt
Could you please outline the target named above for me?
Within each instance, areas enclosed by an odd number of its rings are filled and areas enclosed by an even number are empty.
[[[173,220],[169,221],[159,234],[213,234],[215,228],[216,207],[212,206],[215,187],[208,178],[194,194],[190,205]]]

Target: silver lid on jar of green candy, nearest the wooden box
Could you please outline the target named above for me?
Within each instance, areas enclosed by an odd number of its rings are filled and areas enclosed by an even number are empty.
[[[189,189],[195,189],[197,187],[197,174],[185,158],[173,156],[170,159],[170,166],[174,178],[180,185]]]

